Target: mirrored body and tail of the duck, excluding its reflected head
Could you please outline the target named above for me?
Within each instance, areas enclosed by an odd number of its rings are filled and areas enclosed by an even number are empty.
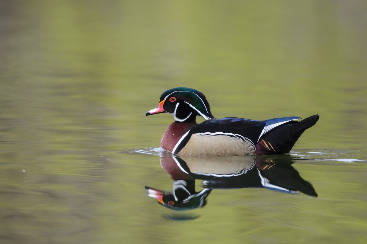
[[[301,159],[279,155],[241,157],[177,157],[161,155],[160,165],[175,181],[204,180],[205,188],[266,188],[317,196],[292,164]]]

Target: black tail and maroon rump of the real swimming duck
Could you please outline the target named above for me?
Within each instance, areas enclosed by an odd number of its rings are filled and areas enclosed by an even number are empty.
[[[310,116],[301,121],[289,121],[282,124],[265,135],[256,144],[257,154],[283,154],[289,153],[302,133],[312,127],[319,120],[319,115]]]

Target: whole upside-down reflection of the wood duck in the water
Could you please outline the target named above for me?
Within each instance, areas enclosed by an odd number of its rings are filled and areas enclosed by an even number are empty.
[[[145,187],[148,196],[174,210],[202,207],[213,189],[267,188],[276,191],[317,196],[312,185],[292,167],[296,159],[287,155],[242,155],[223,158],[195,158],[162,155],[162,168],[174,180],[171,191]],[[196,191],[195,180],[204,189]]]

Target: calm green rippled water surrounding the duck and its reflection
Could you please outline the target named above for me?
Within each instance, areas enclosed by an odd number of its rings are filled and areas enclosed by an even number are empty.
[[[0,243],[366,243],[366,8],[1,1]],[[269,159],[292,161],[318,197],[213,189],[174,211],[147,196],[172,189],[155,148],[173,120],[145,112],[178,86],[218,118],[318,113]]]

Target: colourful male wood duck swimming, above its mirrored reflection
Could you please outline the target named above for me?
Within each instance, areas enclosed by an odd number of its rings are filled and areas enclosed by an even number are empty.
[[[289,153],[299,136],[316,124],[318,115],[249,120],[237,117],[215,119],[200,91],[177,87],[165,91],[156,108],[146,116],[169,113],[175,121],[161,139],[161,147],[178,156],[221,157],[245,154]],[[196,116],[206,119],[197,124]]]

